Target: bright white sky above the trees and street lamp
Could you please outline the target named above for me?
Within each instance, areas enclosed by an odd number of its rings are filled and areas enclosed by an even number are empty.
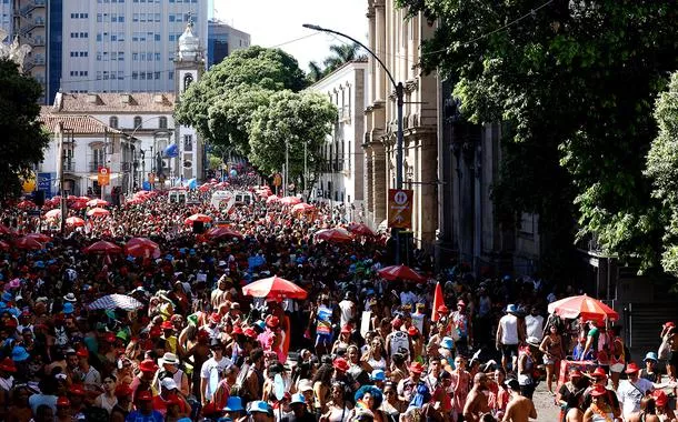
[[[329,47],[339,41],[327,33],[292,41],[315,32],[302,23],[333,29],[367,44],[367,0],[213,0],[213,4],[216,18],[248,32],[252,44],[279,46],[305,71],[311,60],[322,64]]]

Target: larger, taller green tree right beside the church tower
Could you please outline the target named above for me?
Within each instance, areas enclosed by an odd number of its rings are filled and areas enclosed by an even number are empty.
[[[253,111],[276,91],[299,91],[307,84],[297,60],[279,49],[237,50],[207,71],[182,94],[175,111],[212,144],[249,152],[248,124]]]

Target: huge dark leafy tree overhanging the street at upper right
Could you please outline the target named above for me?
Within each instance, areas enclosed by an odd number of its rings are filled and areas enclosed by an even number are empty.
[[[605,252],[656,264],[662,229],[642,157],[652,99],[678,68],[675,2],[399,3],[437,19],[421,64],[456,82],[463,115],[506,122],[493,189],[506,214],[538,212],[554,235],[547,255],[571,250],[578,230]]]

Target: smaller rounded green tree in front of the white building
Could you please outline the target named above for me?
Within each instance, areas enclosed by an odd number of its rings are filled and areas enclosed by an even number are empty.
[[[262,172],[282,169],[285,151],[289,154],[290,181],[302,182],[305,143],[309,174],[316,174],[322,162],[321,147],[337,120],[337,109],[317,92],[276,92],[268,107],[252,117],[250,162]]]

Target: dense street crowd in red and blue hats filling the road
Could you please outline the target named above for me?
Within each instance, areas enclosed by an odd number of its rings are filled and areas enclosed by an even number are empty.
[[[1,421],[521,422],[538,419],[542,380],[565,421],[676,421],[672,323],[662,355],[637,364],[609,321],[546,316],[571,288],[478,280],[463,264],[433,273],[423,259],[425,282],[387,281],[382,237],[315,239],[347,223],[327,205],[293,213],[261,198],[226,212],[196,199],[149,194],[101,218],[72,210],[86,224],[66,233],[2,210]],[[186,219],[198,212],[240,235],[195,233]],[[12,247],[40,230],[39,249]],[[161,253],[83,251],[133,237]],[[242,294],[273,275],[308,298]],[[88,307],[114,293],[140,307]]]

